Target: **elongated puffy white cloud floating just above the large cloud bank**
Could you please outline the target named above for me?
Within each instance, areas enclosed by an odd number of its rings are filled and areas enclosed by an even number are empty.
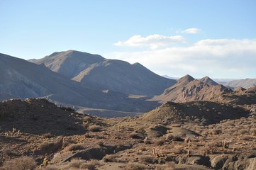
[[[150,47],[151,49],[157,49],[158,47],[165,47],[174,43],[186,42],[185,38],[181,35],[165,36],[165,35],[148,35],[142,37],[141,35],[133,35],[126,41],[118,41],[114,45],[128,46],[128,47]]]

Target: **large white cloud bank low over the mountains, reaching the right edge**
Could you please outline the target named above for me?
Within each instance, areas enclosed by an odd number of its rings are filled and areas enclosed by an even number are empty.
[[[256,40],[200,40],[189,47],[114,52],[109,57],[140,62],[171,77],[256,78]]]

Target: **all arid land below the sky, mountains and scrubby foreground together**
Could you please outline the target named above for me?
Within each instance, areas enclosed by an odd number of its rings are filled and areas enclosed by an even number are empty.
[[[232,90],[73,50],[0,66],[0,169],[256,169],[254,79]]]

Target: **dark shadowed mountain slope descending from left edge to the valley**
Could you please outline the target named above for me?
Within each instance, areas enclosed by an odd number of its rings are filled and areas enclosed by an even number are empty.
[[[115,91],[89,89],[44,65],[0,54],[0,98],[48,98],[61,105],[142,113],[157,103]]]

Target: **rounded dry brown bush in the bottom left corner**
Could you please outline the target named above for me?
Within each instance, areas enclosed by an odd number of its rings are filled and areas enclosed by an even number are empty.
[[[35,169],[36,162],[32,157],[18,157],[4,162],[3,169],[5,170],[27,170]]]

